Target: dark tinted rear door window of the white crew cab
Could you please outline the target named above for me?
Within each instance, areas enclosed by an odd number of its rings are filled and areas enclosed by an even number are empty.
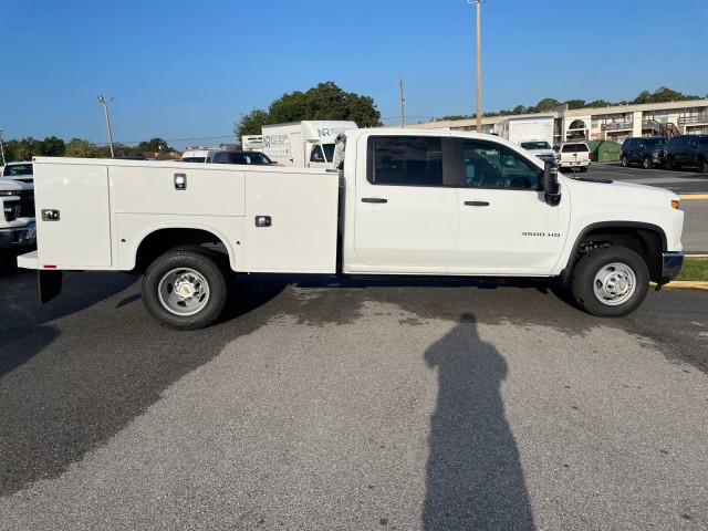
[[[373,137],[373,164],[367,179],[374,185],[442,186],[442,140],[436,137]]]

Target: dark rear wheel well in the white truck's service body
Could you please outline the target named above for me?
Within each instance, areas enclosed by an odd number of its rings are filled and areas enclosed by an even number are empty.
[[[160,254],[176,247],[200,247],[219,253],[228,262],[228,250],[223,242],[211,232],[200,229],[162,229],[148,235],[139,244],[133,273],[144,273]]]

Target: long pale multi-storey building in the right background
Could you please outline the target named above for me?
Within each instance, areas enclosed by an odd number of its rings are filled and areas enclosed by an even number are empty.
[[[631,136],[708,134],[708,100],[685,102],[613,105],[607,107],[569,110],[561,105],[539,114],[517,114],[513,117],[553,116],[553,140],[614,140]],[[482,133],[500,134],[499,123],[511,116],[482,118]],[[406,127],[475,131],[476,119],[435,121]]]

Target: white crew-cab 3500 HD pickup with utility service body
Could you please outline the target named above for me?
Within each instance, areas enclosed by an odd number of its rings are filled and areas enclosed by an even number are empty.
[[[680,270],[671,191],[559,175],[492,135],[347,135],[340,171],[37,157],[39,247],[19,266],[43,301],[62,270],[143,273],[178,330],[219,317],[231,271],[556,279],[620,316]]]

